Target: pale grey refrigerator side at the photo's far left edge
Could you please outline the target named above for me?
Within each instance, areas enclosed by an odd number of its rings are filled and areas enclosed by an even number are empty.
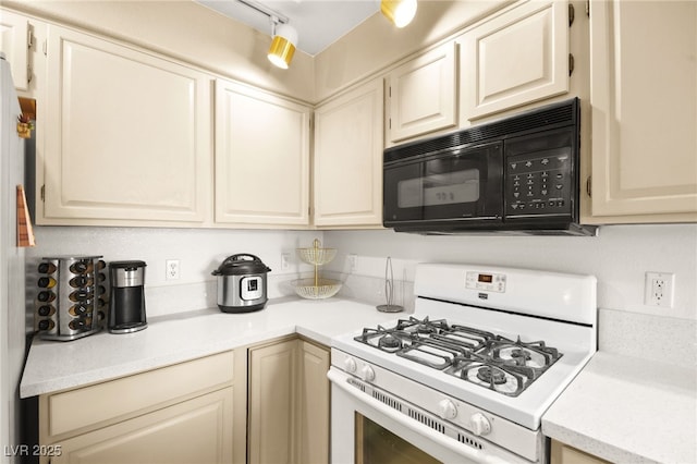
[[[16,132],[21,114],[10,63],[0,53],[0,463],[20,461],[19,384],[25,351],[25,261],[17,247],[16,186],[24,182],[24,139]]]

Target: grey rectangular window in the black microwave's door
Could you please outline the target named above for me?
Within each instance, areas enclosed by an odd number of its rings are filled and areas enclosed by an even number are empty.
[[[398,206],[421,206],[474,203],[479,199],[479,170],[436,173],[398,183]]]

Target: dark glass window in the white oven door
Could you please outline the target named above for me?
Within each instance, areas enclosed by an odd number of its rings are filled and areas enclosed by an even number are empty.
[[[437,464],[430,454],[356,414],[356,464]]]

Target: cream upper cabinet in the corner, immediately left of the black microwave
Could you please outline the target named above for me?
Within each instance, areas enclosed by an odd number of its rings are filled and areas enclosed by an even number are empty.
[[[382,115],[381,80],[315,110],[317,227],[382,224]]]

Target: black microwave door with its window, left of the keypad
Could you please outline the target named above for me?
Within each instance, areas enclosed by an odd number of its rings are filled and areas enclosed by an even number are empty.
[[[503,144],[415,155],[383,167],[383,223],[433,230],[454,222],[502,220]]]

